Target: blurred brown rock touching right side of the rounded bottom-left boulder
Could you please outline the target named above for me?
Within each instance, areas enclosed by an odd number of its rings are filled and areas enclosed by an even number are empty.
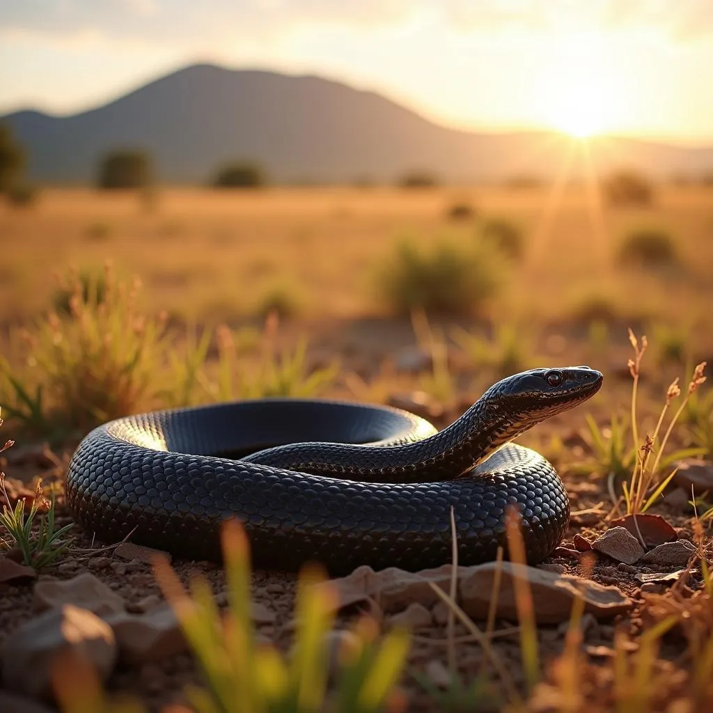
[[[186,649],[183,631],[168,604],[143,615],[114,614],[106,622],[116,637],[121,660],[127,663],[160,661]]]

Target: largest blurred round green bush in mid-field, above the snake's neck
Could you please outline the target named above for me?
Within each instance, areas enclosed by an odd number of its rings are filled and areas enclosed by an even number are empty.
[[[396,314],[414,309],[469,314],[496,294],[500,277],[500,262],[477,246],[441,241],[426,251],[403,242],[381,267],[378,284],[381,297]]]

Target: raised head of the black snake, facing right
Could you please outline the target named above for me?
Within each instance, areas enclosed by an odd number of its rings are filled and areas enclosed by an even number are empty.
[[[498,381],[489,391],[499,409],[519,414],[529,427],[587,401],[603,379],[588,366],[530,369]]]

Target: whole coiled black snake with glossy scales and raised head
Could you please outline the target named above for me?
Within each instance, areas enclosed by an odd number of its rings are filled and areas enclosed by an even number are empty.
[[[451,507],[459,562],[493,560],[515,506],[536,563],[560,542],[569,501],[545,458],[508,441],[589,399],[601,382],[586,367],[516,374],[440,433],[405,411],[335,401],[128,416],[80,443],[67,501],[102,540],[135,528],[134,542],[190,558],[220,559],[220,523],[237,517],[258,566],[294,570],[319,560],[332,573],[449,562]],[[267,450],[245,455],[257,448]]]

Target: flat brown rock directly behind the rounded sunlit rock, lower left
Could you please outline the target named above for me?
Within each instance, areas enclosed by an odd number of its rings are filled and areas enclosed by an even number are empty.
[[[100,617],[124,611],[124,600],[94,575],[85,572],[71,580],[38,582],[34,590],[37,611],[73,604]]]

